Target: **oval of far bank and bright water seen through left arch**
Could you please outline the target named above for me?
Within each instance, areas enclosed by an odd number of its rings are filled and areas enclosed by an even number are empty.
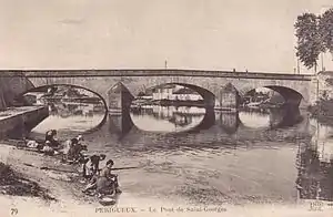
[[[85,132],[100,125],[105,116],[105,105],[94,93],[71,85],[39,87],[24,94],[32,105],[49,106],[50,115],[32,133],[50,128],[61,134]]]

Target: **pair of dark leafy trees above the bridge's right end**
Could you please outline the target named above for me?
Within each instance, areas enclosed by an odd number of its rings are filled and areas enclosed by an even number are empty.
[[[333,8],[321,16],[303,13],[294,27],[297,58],[307,69],[316,71],[320,54],[326,51],[333,54]]]

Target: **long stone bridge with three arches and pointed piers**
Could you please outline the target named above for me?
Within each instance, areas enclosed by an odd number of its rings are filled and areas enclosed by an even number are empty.
[[[223,107],[223,93],[225,93],[226,87],[234,90],[235,99],[240,99],[251,90],[268,87],[279,92],[286,103],[307,106],[315,101],[316,87],[312,75],[259,72],[198,70],[33,70],[3,72],[2,76],[24,76],[28,79],[29,89],[27,87],[26,92],[30,91],[32,86],[74,85],[103,97],[109,108],[129,107],[133,96],[161,84],[179,84],[195,90],[203,97],[206,107]],[[117,97],[121,101],[114,101]]]

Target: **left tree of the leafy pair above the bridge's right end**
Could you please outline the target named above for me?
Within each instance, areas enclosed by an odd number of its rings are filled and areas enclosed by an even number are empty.
[[[319,32],[320,18],[313,13],[303,13],[295,22],[297,45],[296,55],[307,68],[316,71],[317,60],[324,51],[321,34]]]

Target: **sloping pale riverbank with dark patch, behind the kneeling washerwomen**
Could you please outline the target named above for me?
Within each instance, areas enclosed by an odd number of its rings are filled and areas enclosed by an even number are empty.
[[[70,214],[73,207],[94,203],[94,198],[89,198],[81,193],[84,184],[79,182],[78,174],[40,169],[41,167],[48,167],[74,172],[72,166],[62,165],[54,157],[18,149],[12,145],[0,144],[0,165],[8,169],[8,174],[13,174],[3,177],[7,182],[13,180],[10,186],[11,192],[1,190],[0,194],[0,204],[10,204],[6,209],[21,207],[18,208],[19,213],[21,211],[24,216],[28,211],[24,207],[30,207],[34,211],[41,210],[54,214],[64,211]],[[20,184],[20,180],[23,180],[23,184]],[[0,184],[0,189],[6,187],[2,184]],[[22,192],[26,194],[22,194]],[[0,216],[7,215],[0,214]]]

